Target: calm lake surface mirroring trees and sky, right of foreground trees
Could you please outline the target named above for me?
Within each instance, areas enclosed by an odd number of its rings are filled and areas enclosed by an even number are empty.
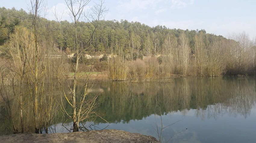
[[[255,91],[254,77],[99,82],[90,94],[99,95],[97,109],[108,122],[97,118],[91,127],[158,139],[163,125],[163,142],[256,142]],[[52,129],[68,132],[61,124]]]

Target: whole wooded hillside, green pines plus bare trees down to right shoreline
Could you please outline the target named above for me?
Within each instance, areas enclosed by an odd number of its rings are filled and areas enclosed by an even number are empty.
[[[15,27],[32,28],[31,14],[15,8],[0,8],[2,23]],[[205,30],[169,29],[150,27],[127,20],[101,20],[93,32],[93,22],[77,22],[79,45],[91,55],[115,54],[120,51],[126,60],[158,57],[159,63],[168,66],[169,74],[183,76],[219,76],[220,74],[253,74],[255,69],[255,42],[245,33],[231,39],[207,34]],[[49,21],[39,18],[39,39],[46,55],[51,52],[73,53],[75,36],[73,22]],[[2,25],[3,27],[4,25]],[[10,35],[15,27],[0,28],[1,55],[8,56]],[[90,37],[92,36],[92,37]],[[235,40],[233,40],[235,39]],[[56,54],[56,53],[55,53]],[[170,65],[168,65],[170,64]]]

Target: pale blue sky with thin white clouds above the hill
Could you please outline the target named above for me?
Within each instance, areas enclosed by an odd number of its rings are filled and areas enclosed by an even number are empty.
[[[63,13],[62,20],[71,21],[64,0],[47,1],[45,18],[55,20],[53,11]],[[88,10],[94,2],[86,7]],[[0,0],[0,7],[28,11],[30,0]],[[105,20],[126,19],[148,26],[167,28],[205,29],[207,33],[229,37],[246,32],[256,38],[256,0],[105,0],[108,13]]]

